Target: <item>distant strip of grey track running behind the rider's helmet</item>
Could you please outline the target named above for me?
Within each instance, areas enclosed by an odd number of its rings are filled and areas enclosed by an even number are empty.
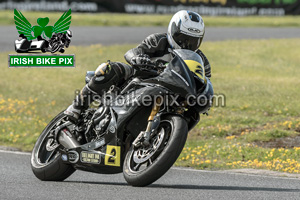
[[[140,43],[151,33],[166,32],[166,27],[71,27],[71,45]],[[18,39],[15,26],[0,26],[0,51],[14,51]],[[206,28],[204,41],[236,39],[299,38],[300,28]]]

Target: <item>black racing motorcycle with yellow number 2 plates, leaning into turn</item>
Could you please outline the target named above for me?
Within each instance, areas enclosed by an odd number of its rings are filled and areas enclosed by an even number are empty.
[[[108,90],[110,103],[88,108],[76,124],[63,112],[58,114],[33,148],[35,176],[63,181],[75,170],[123,172],[132,186],[146,186],[163,176],[179,157],[200,114],[207,114],[213,97],[201,57],[183,49],[170,53],[169,63],[133,65],[133,78]],[[200,102],[195,103],[198,97]]]

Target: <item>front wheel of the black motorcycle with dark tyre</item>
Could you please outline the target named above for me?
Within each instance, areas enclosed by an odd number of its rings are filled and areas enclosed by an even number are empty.
[[[162,118],[150,146],[129,149],[123,165],[125,180],[133,186],[146,186],[164,175],[177,160],[186,142],[188,126],[176,115]]]

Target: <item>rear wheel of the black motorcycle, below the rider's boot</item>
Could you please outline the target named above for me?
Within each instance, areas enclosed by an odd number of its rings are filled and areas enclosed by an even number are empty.
[[[65,119],[63,112],[58,114],[43,130],[37,139],[31,154],[31,168],[34,175],[42,181],[63,181],[74,173],[71,165],[62,162],[61,155],[57,151],[57,144],[49,141],[50,131],[55,129]],[[54,148],[56,145],[56,148]]]

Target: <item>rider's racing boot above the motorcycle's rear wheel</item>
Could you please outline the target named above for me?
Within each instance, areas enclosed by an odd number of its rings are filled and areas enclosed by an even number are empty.
[[[93,94],[97,94],[85,85],[80,93],[75,97],[73,103],[64,111],[69,120],[77,123],[81,112],[86,110],[92,102]]]

